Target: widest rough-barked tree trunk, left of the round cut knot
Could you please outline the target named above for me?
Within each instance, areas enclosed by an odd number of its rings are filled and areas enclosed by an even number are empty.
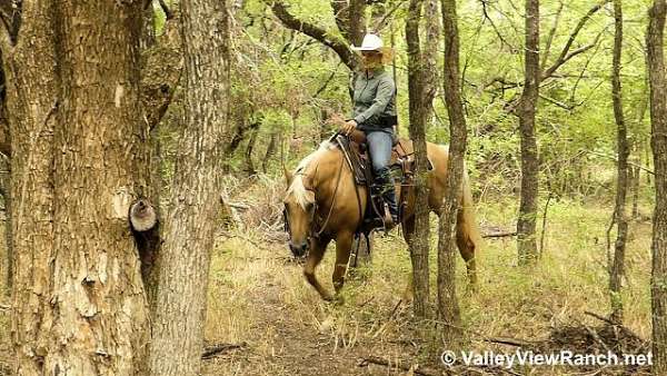
[[[148,307],[131,201],[148,181],[139,2],[24,2],[3,40],[17,375],[139,375]],[[113,32],[109,32],[113,30]],[[7,53],[6,53],[7,52]]]

